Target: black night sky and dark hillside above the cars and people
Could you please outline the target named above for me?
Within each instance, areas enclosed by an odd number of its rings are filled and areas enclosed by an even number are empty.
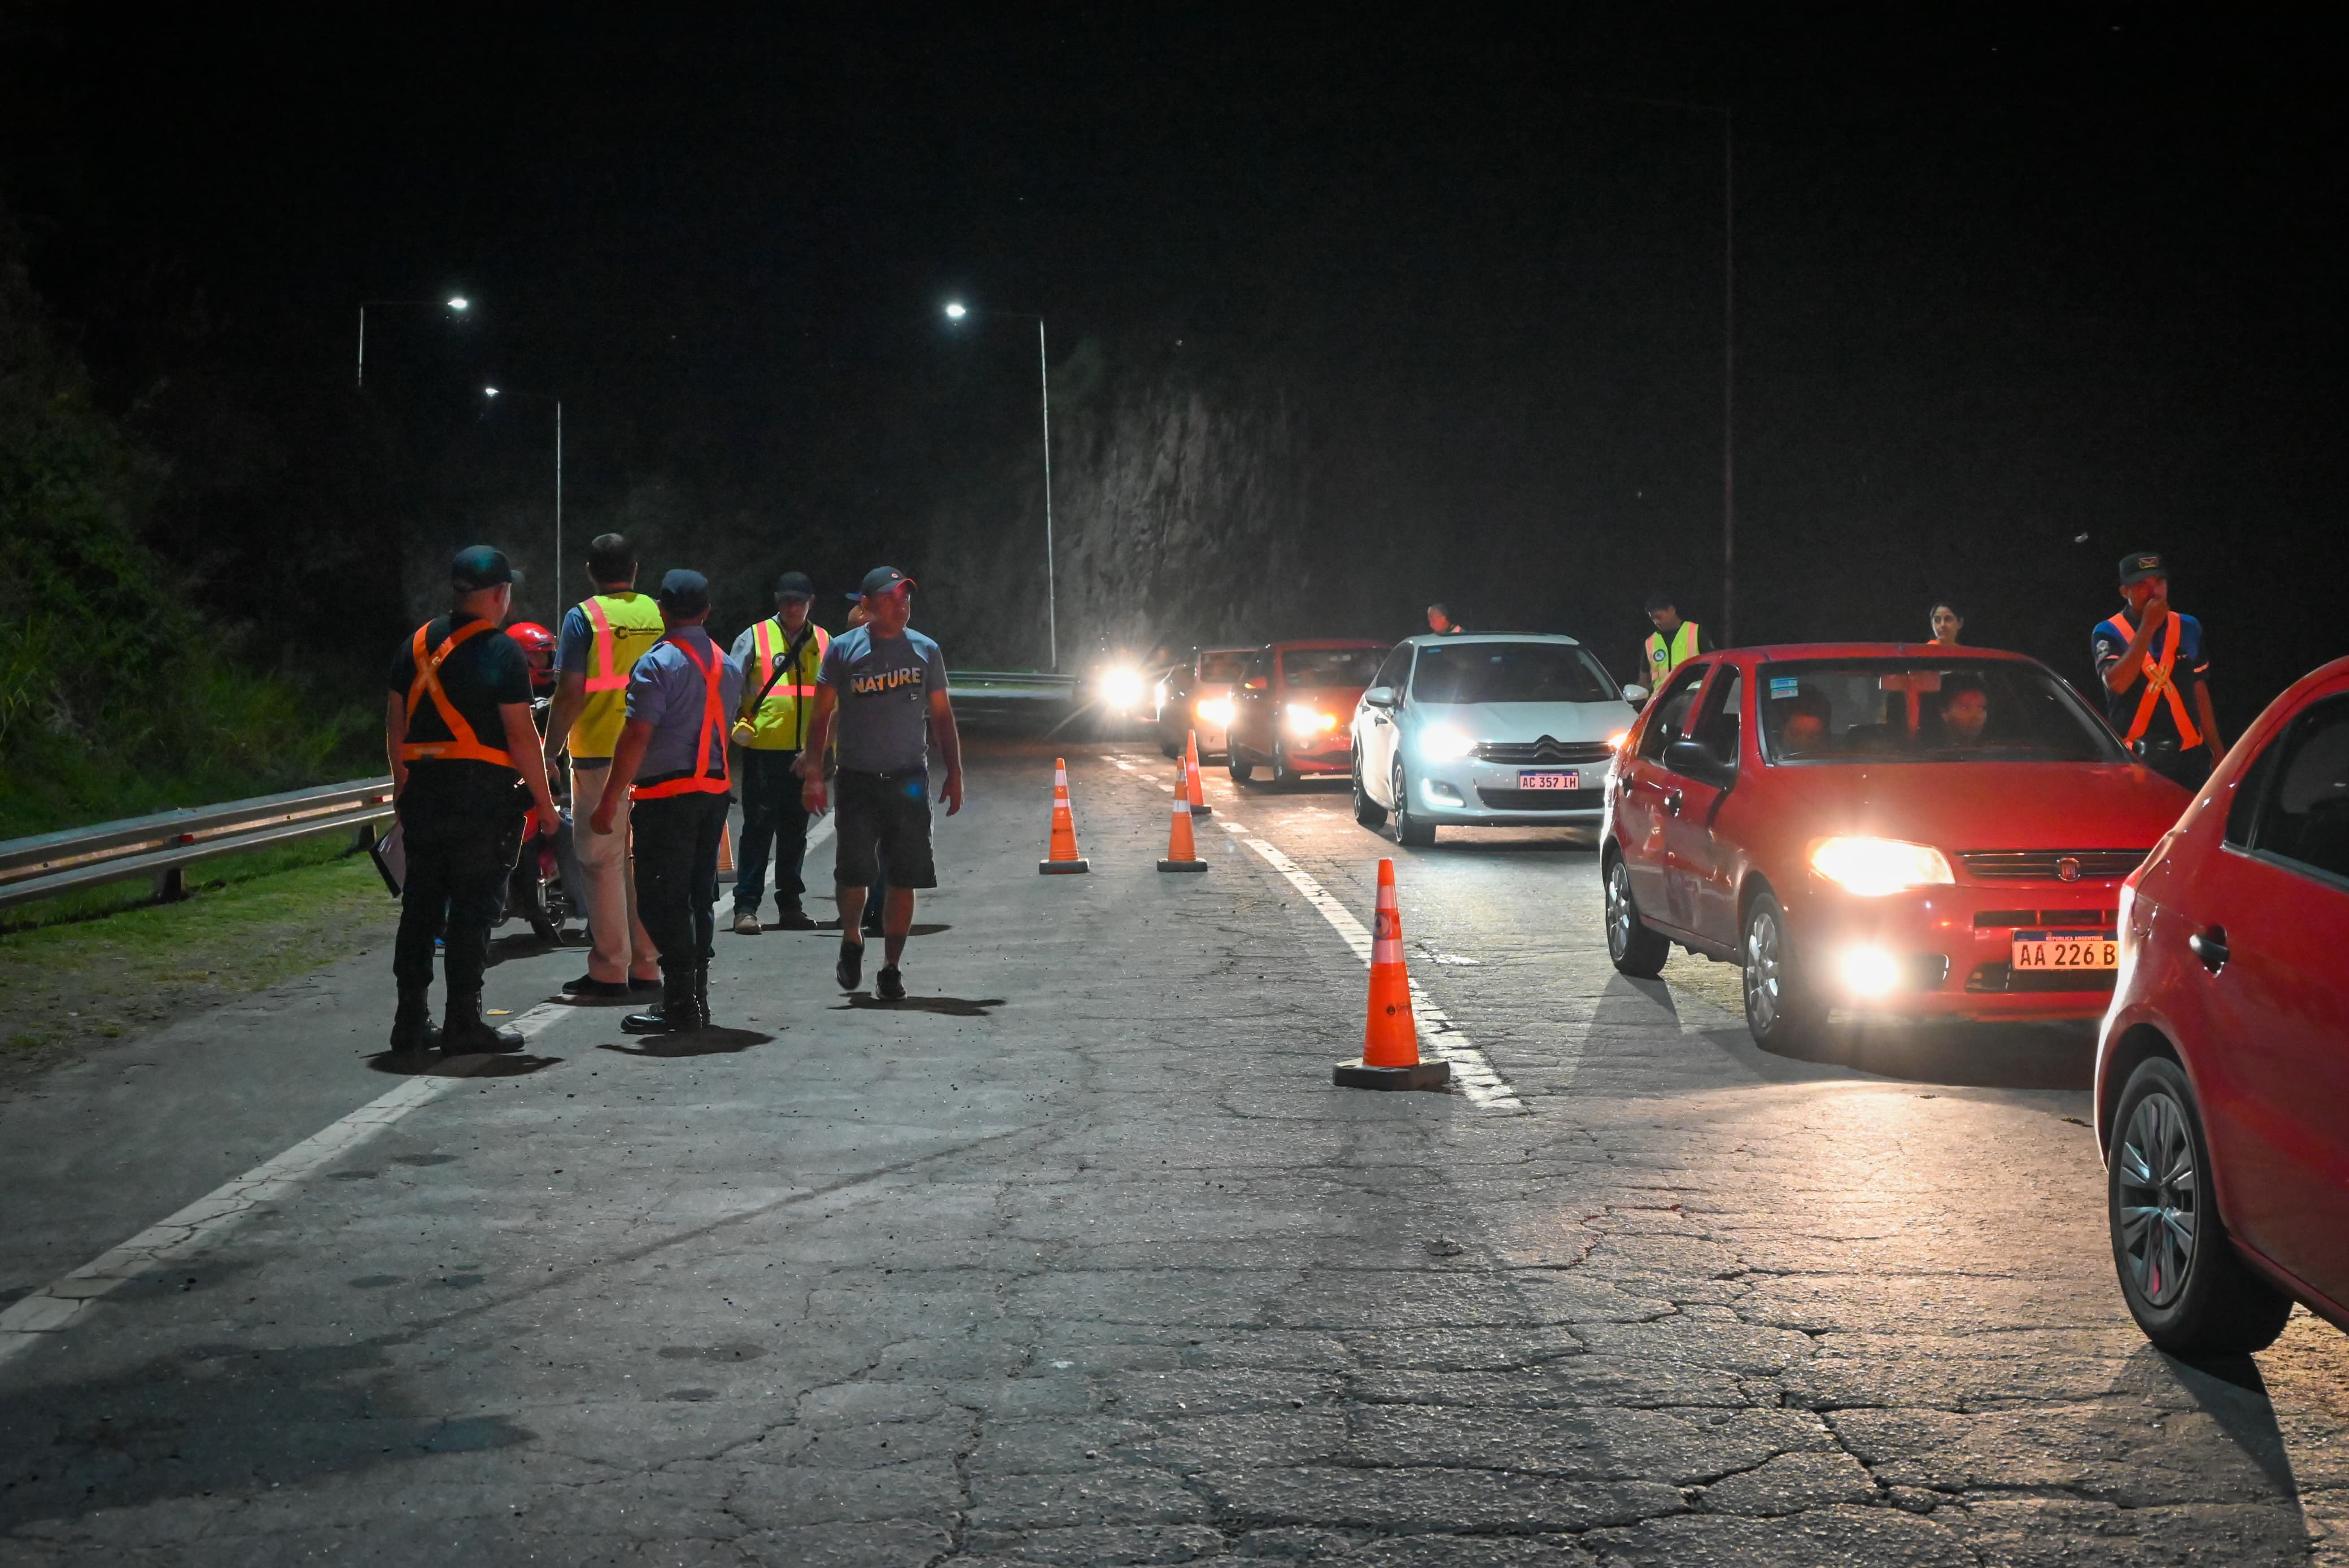
[[[888,559],[949,660],[1038,660],[1043,312],[1109,563],[1064,566],[1064,664],[1447,596],[1623,671],[1649,587],[1717,620],[1722,575],[1719,120],[1626,99],[1731,106],[1738,641],[1954,596],[2086,683],[2166,549],[2236,730],[2349,650],[2342,49],[2048,9],[19,5],[0,195],[174,465],[157,545],[287,648],[373,669],[479,535],[540,566],[550,415],[498,380],[564,397],[568,554],[630,523],[733,622]],[[371,315],[355,394],[357,300],[451,291]],[[1120,533],[1085,366],[1221,411],[1184,460],[1259,465],[1278,533]]]

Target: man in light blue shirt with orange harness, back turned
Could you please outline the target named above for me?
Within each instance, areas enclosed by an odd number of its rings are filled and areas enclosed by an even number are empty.
[[[709,580],[660,580],[660,641],[627,676],[627,723],[611,782],[587,819],[611,833],[632,796],[637,915],[660,948],[660,1002],[620,1019],[632,1035],[677,1035],[709,1023],[709,951],[716,934],[719,836],[726,831],[726,742],[742,707],[742,667],[702,622]]]

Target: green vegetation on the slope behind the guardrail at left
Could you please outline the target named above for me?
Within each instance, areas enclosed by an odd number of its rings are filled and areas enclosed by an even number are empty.
[[[381,768],[148,547],[162,462],[94,406],[0,216],[0,838]]]

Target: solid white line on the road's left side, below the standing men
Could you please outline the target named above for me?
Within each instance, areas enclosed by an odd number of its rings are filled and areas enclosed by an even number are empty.
[[[568,1012],[566,1002],[540,1002],[507,1028],[531,1038]],[[439,1073],[402,1080],[390,1094],[371,1099],[275,1160],[256,1164],[179,1214],[155,1221],[129,1242],[99,1253],[63,1279],[16,1300],[7,1312],[0,1312],[0,1364],[23,1354],[42,1336],[70,1329],[89,1310],[89,1303],[141,1275],[202,1251],[263,1204],[291,1192],[327,1162],[359,1148],[411,1110],[430,1106],[491,1061],[493,1056],[458,1056],[444,1061]]]

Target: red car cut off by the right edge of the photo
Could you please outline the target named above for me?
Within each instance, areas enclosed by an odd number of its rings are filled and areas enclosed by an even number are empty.
[[[2349,1329],[2349,660],[2276,697],[2121,892],[2095,1054],[2112,1258],[2145,1336]]]

